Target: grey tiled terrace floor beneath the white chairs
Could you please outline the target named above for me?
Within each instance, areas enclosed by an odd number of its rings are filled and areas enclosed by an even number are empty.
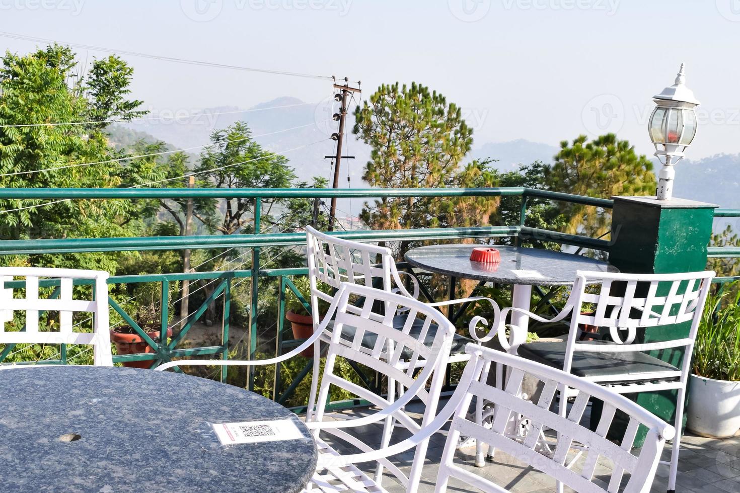
[[[420,417],[420,406],[408,407],[408,414]],[[369,409],[356,409],[345,414],[366,415]],[[357,436],[366,443],[380,442],[382,426],[374,424],[357,430]],[[398,430],[399,432],[403,430]],[[394,435],[394,438],[400,435]],[[427,460],[423,470],[423,480],[419,492],[433,492],[439,468],[440,457],[445,444],[446,433],[435,434],[430,441]],[[394,439],[395,441],[395,439]],[[344,450],[344,449],[343,449]],[[350,451],[347,451],[350,452]],[[555,483],[547,475],[536,471],[506,455],[497,455],[496,460],[489,462],[482,468],[473,465],[474,447],[457,452],[456,463],[468,468],[476,474],[483,475],[511,492],[554,492]],[[500,456],[500,457],[499,457]],[[664,451],[664,459],[670,457],[670,445]],[[411,468],[412,452],[396,456],[393,460],[400,469],[408,474]],[[610,464],[602,463],[596,469],[596,477],[610,472]],[[363,468],[364,469],[364,468]],[[667,490],[668,467],[659,466],[653,482],[653,492],[665,493]],[[603,485],[605,486],[605,484]],[[389,492],[404,492],[405,489],[392,475],[383,479],[383,487]],[[451,479],[448,487],[450,492],[477,491],[457,480]],[[567,491],[567,489],[566,489]],[[740,493],[740,433],[727,440],[713,440],[693,435],[684,435],[679,460],[679,476],[676,492],[693,493]]]

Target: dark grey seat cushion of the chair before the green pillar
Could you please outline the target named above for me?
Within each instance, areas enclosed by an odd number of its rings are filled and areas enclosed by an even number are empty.
[[[614,344],[610,341],[586,341],[582,344]],[[549,367],[562,370],[565,364],[565,341],[563,342],[530,342],[519,346],[519,356],[522,356]],[[639,380],[640,375],[677,372],[678,368],[672,364],[653,358],[645,353],[591,353],[575,351],[571,373],[582,377],[605,378],[610,381],[614,377],[624,375],[624,381]]]

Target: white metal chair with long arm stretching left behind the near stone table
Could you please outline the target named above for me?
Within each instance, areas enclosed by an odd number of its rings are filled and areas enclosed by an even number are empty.
[[[355,296],[363,299],[360,305],[350,304],[350,297]],[[377,304],[383,306],[383,313],[374,311],[374,306],[377,306]],[[393,321],[397,310],[406,310],[409,313],[408,322],[400,329],[394,327]],[[332,461],[340,455],[326,441],[323,441],[320,437],[320,430],[325,430],[327,433],[363,450],[363,452],[370,452],[371,447],[369,445],[349,435],[344,429],[357,428],[380,421],[386,421],[387,424],[388,418],[393,418],[400,426],[406,427],[411,432],[417,432],[421,426],[434,418],[454,335],[453,324],[434,307],[429,307],[416,299],[397,293],[344,282],[340,285],[337,295],[332,299],[329,313],[320,329],[314,332],[314,335],[306,339],[299,347],[277,358],[256,361],[227,360],[223,361],[223,364],[238,366],[272,365],[293,358],[314,344],[314,341],[317,341],[323,335],[332,318],[334,324],[326,353],[323,377],[321,378],[320,402],[327,402],[329,388],[334,385],[349,390],[358,398],[366,399],[380,408],[380,411],[366,418],[340,422],[321,422],[321,419],[325,416],[323,407],[319,407],[312,417],[307,416],[306,421],[312,421],[308,422],[307,426],[317,430],[316,439],[321,456],[320,468],[317,469],[316,475],[314,475],[309,491],[337,491],[329,486],[335,483],[341,483],[348,488],[359,488],[362,484],[377,486],[383,474],[380,465],[386,467],[403,484],[408,484],[409,491],[415,491],[415,485],[418,484],[421,476],[420,468],[423,466],[428,437],[414,443],[414,446],[417,447],[416,457],[419,460],[416,461],[417,465],[414,466],[411,475],[406,477],[397,466],[381,458],[377,460],[379,466],[376,470],[376,480],[371,480],[357,468],[334,467]],[[420,333],[418,334],[412,333],[414,321],[420,321],[421,324]],[[433,327],[436,328],[433,329]],[[351,333],[349,339],[346,337],[347,330]],[[425,336],[431,330],[434,330],[434,340],[431,344],[427,344]],[[372,337],[374,342],[372,347],[367,348],[364,341],[367,341],[369,336]],[[383,398],[370,390],[353,384],[343,375],[334,373],[337,356],[386,375],[389,381],[397,382],[403,395],[396,398],[396,385],[389,385],[388,398]],[[218,365],[222,362],[213,360],[170,361],[157,367],[157,370],[192,364]],[[416,421],[403,412],[403,407],[412,398],[420,398],[426,406],[425,417],[421,424],[417,424]],[[390,435],[391,428],[385,426],[381,446],[387,445]],[[342,491],[342,489],[338,489],[338,491]]]

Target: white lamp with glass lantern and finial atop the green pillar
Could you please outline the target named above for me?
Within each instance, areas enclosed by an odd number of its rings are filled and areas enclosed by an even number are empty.
[[[658,200],[670,200],[673,196],[673,171],[682,157],[684,150],[696,135],[696,113],[694,108],[699,101],[686,84],[684,64],[676,75],[676,82],[653,96],[656,103],[653,115],[650,115],[648,130],[650,140],[655,144],[655,155],[663,164],[658,175]]]

